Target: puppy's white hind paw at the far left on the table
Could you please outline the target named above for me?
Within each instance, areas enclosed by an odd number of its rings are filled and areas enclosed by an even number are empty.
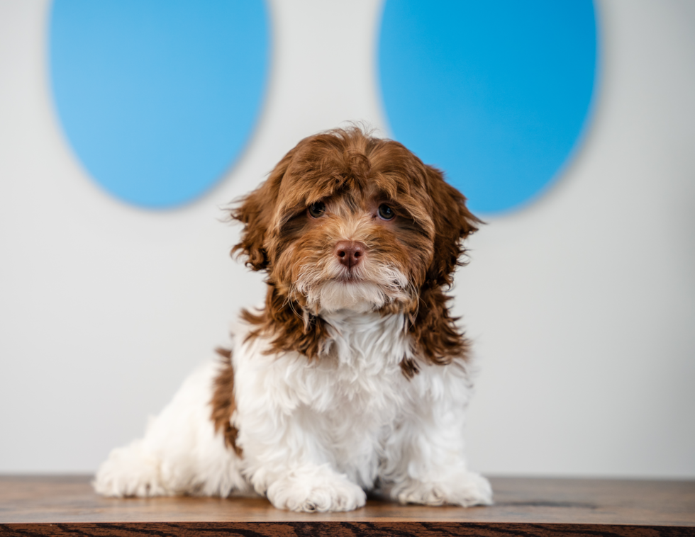
[[[143,451],[136,440],[111,451],[96,472],[94,490],[104,496],[165,496],[170,494],[160,480],[159,461]]]

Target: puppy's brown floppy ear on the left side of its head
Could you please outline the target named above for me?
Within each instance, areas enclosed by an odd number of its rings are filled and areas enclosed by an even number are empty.
[[[246,266],[255,271],[267,269],[269,265],[265,247],[267,234],[277,206],[280,183],[287,172],[293,154],[294,151],[286,154],[275,166],[268,179],[255,191],[238,200],[236,206],[230,211],[231,217],[244,225],[241,231],[241,242],[232,248],[231,254],[245,256]]]

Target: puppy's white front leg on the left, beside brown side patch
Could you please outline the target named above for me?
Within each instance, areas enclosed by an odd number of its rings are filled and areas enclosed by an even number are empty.
[[[243,449],[243,473],[255,491],[278,509],[291,511],[362,507],[365,492],[334,464],[334,446],[327,436],[331,418],[313,409],[317,402],[308,389],[310,370],[292,357],[251,351],[234,356],[234,424]]]

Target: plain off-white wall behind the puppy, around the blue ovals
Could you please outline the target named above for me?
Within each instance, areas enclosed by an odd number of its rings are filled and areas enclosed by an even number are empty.
[[[487,219],[459,274],[480,368],[469,458],[487,473],[695,477],[695,4],[598,8],[583,147],[537,203]],[[269,96],[243,158],[186,208],[131,208],[57,125],[47,9],[0,3],[0,472],[93,471],[140,434],[262,298],[228,259],[238,228],[221,206],[301,137],[343,120],[388,134],[379,2],[275,0]]]

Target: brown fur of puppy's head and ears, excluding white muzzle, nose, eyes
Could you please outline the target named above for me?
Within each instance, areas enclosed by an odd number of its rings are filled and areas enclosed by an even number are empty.
[[[318,202],[327,210],[314,218],[307,208]],[[394,220],[377,217],[381,203],[394,209]],[[450,317],[443,288],[462,264],[462,240],[480,220],[440,171],[403,145],[357,128],[305,138],[231,215],[244,224],[233,253],[243,254],[252,269],[267,271],[265,309],[243,316],[257,327],[251,337],[273,338],[270,352],[299,351],[310,359],[321,353],[326,323],[298,282],[306,267],[323,270],[317,278],[325,276],[335,243],[350,239],[367,245],[358,275],[395,267],[406,276],[407,288],[394,291],[397,298],[380,311],[408,315],[417,356],[435,364],[466,357],[467,341]],[[408,377],[418,372],[411,360],[404,359],[401,369]]]

